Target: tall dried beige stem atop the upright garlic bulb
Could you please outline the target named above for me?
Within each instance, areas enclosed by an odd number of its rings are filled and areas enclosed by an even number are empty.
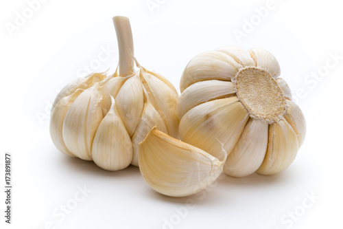
[[[117,16],[113,17],[113,23],[119,49],[119,75],[129,76],[134,73],[134,50],[130,21],[127,17]]]

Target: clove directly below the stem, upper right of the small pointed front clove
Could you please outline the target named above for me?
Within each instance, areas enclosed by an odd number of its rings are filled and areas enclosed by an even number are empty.
[[[139,76],[128,76],[117,94],[116,109],[132,137],[143,111],[143,87]]]

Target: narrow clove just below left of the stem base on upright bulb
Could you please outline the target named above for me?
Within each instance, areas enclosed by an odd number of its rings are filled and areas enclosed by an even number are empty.
[[[111,78],[102,88],[102,111],[104,116],[110,110],[112,105],[111,96],[115,98],[118,94],[119,89],[125,82],[124,77],[116,76],[115,78]]]

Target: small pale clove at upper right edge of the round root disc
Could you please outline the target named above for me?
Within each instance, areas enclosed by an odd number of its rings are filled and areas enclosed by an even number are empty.
[[[281,69],[279,62],[270,52],[259,47],[252,48],[249,52],[257,67],[265,69],[274,78],[280,76]]]

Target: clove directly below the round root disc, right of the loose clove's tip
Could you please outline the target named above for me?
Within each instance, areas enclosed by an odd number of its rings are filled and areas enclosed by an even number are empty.
[[[224,164],[224,173],[244,177],[261,166],[268,144],[268,123],[250,118]]]

